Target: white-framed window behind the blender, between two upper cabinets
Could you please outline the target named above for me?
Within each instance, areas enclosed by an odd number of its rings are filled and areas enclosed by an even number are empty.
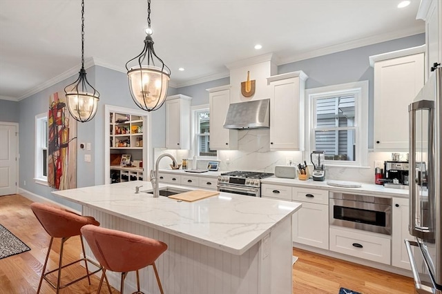
[[[368,81],[306,90],[309,152],[324,151],[329,165],[367,165]]]

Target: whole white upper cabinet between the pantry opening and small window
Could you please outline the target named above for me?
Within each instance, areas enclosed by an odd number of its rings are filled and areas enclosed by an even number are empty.
[[[166,98],[166,148],[190,149],[191,99],[184,95]]]

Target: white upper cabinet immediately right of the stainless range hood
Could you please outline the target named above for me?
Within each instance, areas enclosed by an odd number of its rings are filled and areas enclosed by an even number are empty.
[[[304,90],[307,75],[267,78],[270,90],[270,150],[304,150]]]

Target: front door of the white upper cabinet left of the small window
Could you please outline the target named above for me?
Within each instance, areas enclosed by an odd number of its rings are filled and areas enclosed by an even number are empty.
[[[166,148],[180,149],[180,99],[166,101]]]

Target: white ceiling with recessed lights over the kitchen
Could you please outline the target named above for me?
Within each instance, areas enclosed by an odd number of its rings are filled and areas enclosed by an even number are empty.
[[[146,1],[85,2],[86,60],[126,72],[126,61],[144,46]],[[225,64],[269,52],[282,64],[424,32],[416,20],[420,1],[402,9],[398,3],[152,0],[154,48],[178,88],[227,77]],[[75,75],[80,29],[80,0],[0,0],[0,98],[24,99]]]

